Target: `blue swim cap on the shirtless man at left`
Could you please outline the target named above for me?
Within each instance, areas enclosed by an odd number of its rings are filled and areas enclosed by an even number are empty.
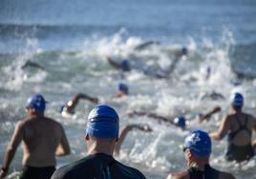
[[[46,101],[41,94],[32,95],[28,101],[26,108],[32,108],[37,111],[44,111],[46,106]]]

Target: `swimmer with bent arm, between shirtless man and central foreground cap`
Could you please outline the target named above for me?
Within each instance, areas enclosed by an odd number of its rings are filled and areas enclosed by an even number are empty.
[[[78,105],[78,102],[81,99],[86,99],[93,103],[98,102],[98,99],[96,97],[91,97],[84,93],[77,93],[75,97],[67,104],[60,106],[58,112],[61,113],[63,116],[66,116],[68,114],[75,114],[75,107]]]

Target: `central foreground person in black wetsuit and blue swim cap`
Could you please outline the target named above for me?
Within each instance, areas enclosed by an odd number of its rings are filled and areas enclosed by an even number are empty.
[[[106,105],[96,106],[89,113],[84,137],[88,155],[56,169],[52,179],[145,179],[138,169],[127,167],[114,159],[118,132],[117,111]]]

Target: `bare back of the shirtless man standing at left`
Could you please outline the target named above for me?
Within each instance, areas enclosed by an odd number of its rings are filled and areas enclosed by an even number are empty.
[[[21,121],[17,130],[23,142],[23,166],[55,166],[55,151],[61,141],[67,141],[59,123],[46,117],[33,117]]]

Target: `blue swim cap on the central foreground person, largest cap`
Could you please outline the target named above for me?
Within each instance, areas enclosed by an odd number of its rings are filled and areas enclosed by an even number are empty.
[[[98,105],[88,116],[86,133],[97,138],[117,138],[119,117],[117,111],[107,105]]]

